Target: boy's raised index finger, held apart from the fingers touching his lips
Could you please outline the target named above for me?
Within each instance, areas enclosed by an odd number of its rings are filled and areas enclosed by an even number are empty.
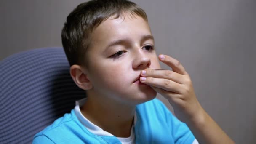
[[[166,64],[169,67],[171,67],[173,69],[173,72],[177,72],[177,73],[179,73],[181,75],[188,75],[188,73],[186,72],[184,67],[181,65],[181,63],[178,60],[172,58],[171,56],[160,54],[159,55],[159,59],[164,64]]]

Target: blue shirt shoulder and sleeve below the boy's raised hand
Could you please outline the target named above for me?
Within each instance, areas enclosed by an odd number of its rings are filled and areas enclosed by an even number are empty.
[[[178,120],[159,99],[139,104],[136,107],[136,116],[137,134],[144,133],[144,138],[157,137],[154,141],[159,143],[177,144],[191,144],[195,140],[187,125]]]

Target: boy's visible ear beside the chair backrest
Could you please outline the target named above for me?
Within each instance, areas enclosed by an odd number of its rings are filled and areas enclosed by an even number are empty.
[[[88,79],[88,73],[83,67],[77,64],[72,65],[70,67],[69,73],[79,88],[82,88],[83,90],[89,90],[93,88],[91,81]]]

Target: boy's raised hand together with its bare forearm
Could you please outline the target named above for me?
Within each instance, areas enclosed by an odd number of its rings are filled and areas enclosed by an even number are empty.
[[[166,55],[160,55],[159,59],[173,71],[146,69],[146,73],[141,72],[141,83],[168,99],[176,117],[187,123],[199,143],[234,144],[197,101],[192,81],[181,63]]]

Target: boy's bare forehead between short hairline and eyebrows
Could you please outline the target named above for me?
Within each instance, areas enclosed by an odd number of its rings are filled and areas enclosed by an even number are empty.
[[[140,16],[115,16],[103,21],[91,33],[92,43],[101,43],[119,38],[139,38],[143,35],[152,35],[149,24]]]

